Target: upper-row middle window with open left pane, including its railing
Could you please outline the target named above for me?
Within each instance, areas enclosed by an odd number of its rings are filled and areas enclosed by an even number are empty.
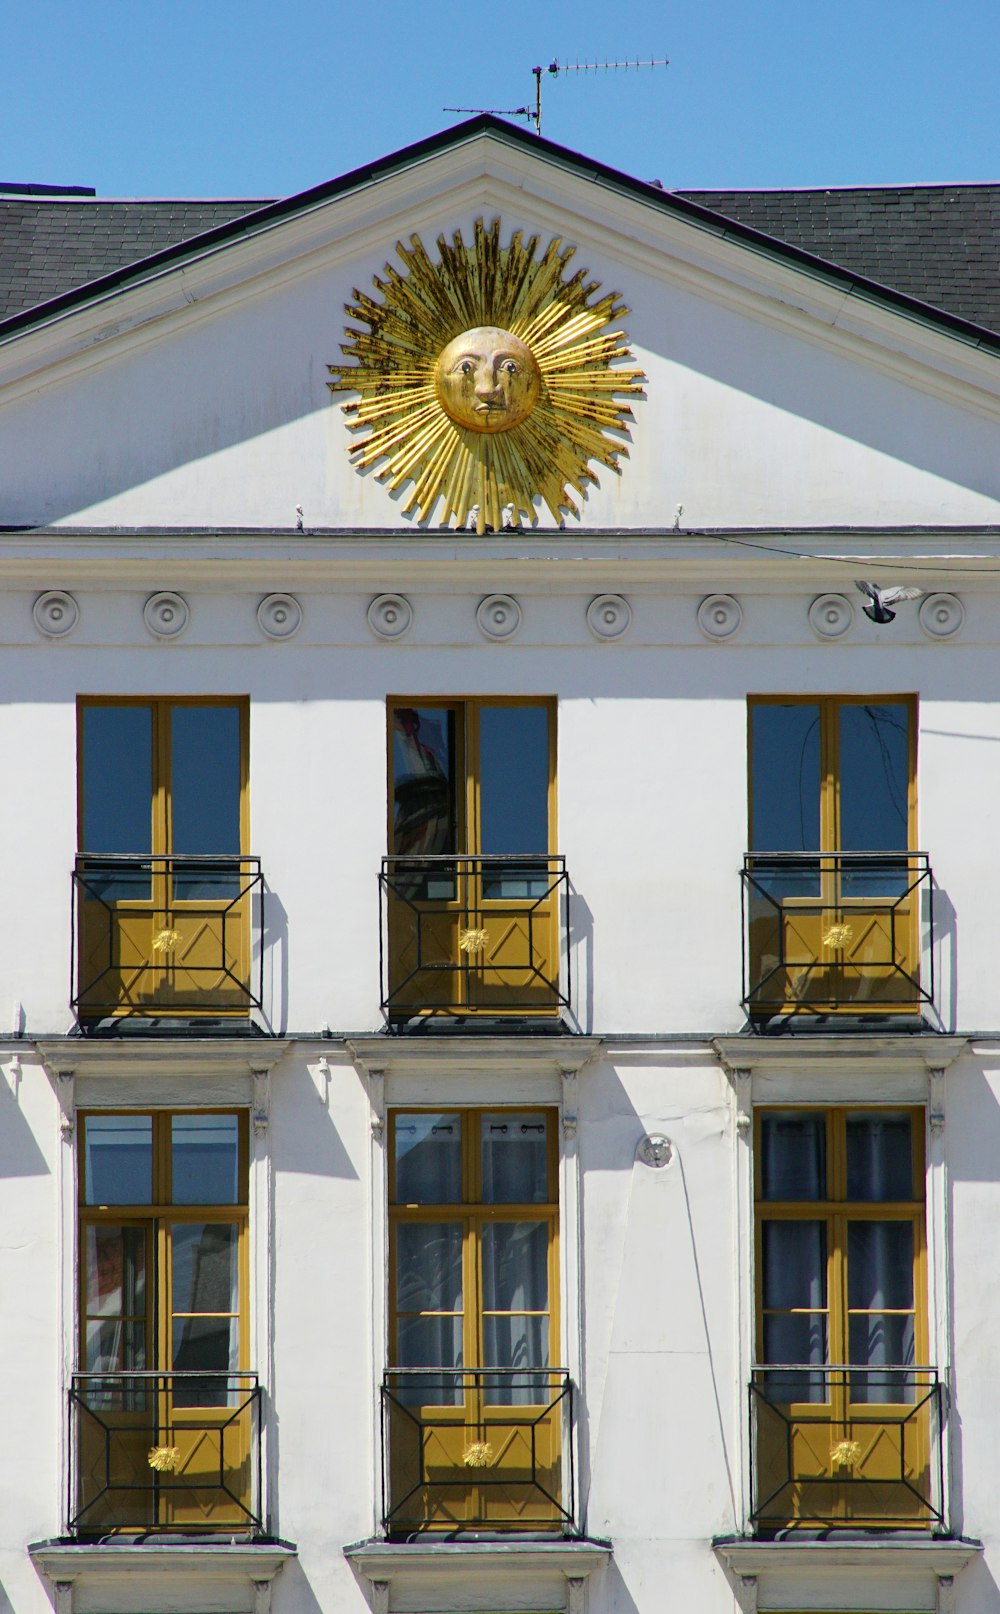
[[[382,1009],[558,1015],[568,883],[555,702],[390,700]]]

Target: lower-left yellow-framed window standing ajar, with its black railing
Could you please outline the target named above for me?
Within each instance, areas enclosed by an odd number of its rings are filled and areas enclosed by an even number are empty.
[[[260,1527],[247,1114],[81,1117],[77,1535]]]

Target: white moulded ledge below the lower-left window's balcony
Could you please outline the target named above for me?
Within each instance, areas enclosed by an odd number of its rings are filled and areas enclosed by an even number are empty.
[[[123,1609],[156,1608],[168,1585],[176,1598],[179,1575],[184,1577],[184,1608],[195,1614],[269,1614],[271,1583],[297,1556],[290,1541],[185,1541],[182,1546],[37,1541],[27,1551],[35,1569],[55,1587],[56,1614],[87,1614],[89,1606],[118,1604],[118,1596],[108,1596],[110,1582],[121,1583]]]

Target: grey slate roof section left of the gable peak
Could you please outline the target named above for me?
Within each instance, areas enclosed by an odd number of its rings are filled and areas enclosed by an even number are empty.
[[[263,202],[69,202],[0,194],[0,320],[258,207]]]

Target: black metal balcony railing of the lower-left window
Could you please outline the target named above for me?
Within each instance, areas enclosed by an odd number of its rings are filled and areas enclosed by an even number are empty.
[[[71,1535],[263,1530],[256,1374],[74,1374]]]

